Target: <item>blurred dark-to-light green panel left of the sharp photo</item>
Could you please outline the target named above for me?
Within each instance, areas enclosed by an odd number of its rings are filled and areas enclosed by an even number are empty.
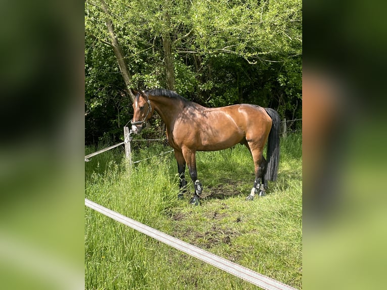
[[[84,288],[84,15],[75,1],[0,9],[0,280]]]

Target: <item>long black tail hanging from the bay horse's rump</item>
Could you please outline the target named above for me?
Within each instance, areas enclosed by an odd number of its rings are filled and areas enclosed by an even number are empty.
[[[279,164],[279,122],[281,121],[278,113],[270,108],[265,108],[267,114],[269,114],[273,125],[269,133],[267,141],[267,167],[265,173],[266,180],[276,180]]]

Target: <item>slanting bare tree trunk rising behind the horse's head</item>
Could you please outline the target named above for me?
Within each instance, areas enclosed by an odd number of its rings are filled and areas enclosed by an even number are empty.
[[[108,27],[109,30],[109,35],[112,40],[112,47],[114,51],[114,55],[117,58],[118,61],[118,66],[120,67],[122,77],[124,78],[125,82],[125,87],[127,92],[130,95],[130,99],[132,100],[132,103],[134,103],[135,96],[133,95],[132,91],[130,90],[132,86],[132,76],[130,75],[128,71],[128,67],[126,66],[125,60],[124,60],[124,54],[122,53],[120,43],[118,42],[116,33],[114,32],[114,24],[113,21],[109,18],[109,8],[106,5],[104,0],[100,0],[102,4],[102,9],[104,10],[106,14],[106,26]]]

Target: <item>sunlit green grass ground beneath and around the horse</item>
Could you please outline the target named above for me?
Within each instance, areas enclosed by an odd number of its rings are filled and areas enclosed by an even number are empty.
[[[122,149],[85,163],[85,196],[109,209],[271,278],[302,288],[301,135],[281,140],[278,179],[246,202],[254,166],[243,146],[199,152],[200,207],[177,200],[173,153],[127,170]],[[92,152],[94,149],[88,149]],[[133,161],[169,151],[152,145]],[[186,174],[187,180],[188,174]],[[190,183],[190,190],[193,186]],[[257,287],[85,208],[86,289],[256,289]]]

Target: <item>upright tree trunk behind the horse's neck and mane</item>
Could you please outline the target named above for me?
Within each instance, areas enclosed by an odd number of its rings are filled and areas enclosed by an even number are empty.
[[[172,54],[172,41],[171,35],[169,33],[170,27],[170,18],[168,14],[168,10],[170,7],[170,0],[165,0],[164,6],[164,15],[163,22],[165,29],[163,30],[163,47],[164,47],[164,61],[165,61],[165,76],[167,89],[174,90],[175,89],[175,69],[173,64],[173,54]]]

